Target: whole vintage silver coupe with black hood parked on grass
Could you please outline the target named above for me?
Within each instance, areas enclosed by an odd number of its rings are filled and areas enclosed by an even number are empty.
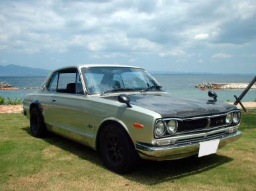
[[[208,95],[169,94],[139,67],[79,65],[52,72],[23,107],[34,136],[50,131],[85,144],[126,173],[140,158],[201,157],[237,140],[240,110]]]

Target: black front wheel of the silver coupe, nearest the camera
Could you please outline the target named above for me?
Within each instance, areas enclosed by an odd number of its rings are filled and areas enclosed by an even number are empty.
[[[100,153],[105,166],[116,173],[128,173],[138,164],[139,156],[132,140],[116,124],[109,124],[101,132]]]

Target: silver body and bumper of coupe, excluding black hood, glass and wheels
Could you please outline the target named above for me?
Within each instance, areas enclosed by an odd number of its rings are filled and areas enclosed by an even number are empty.
[[[115,97],[120,93],[112,94],[95,94],[89,95],[85,78],[81,68],[90,67],[106,67],[106,65],[75,65],[65,68],[77,68],[84,95],[66,94],[50,92],[46,86],[52,72],[42,85],[42,88],[35,94],[26,95],[24,98],[24,114],[30,119],[30,107],[33,104],[39,104],[44,117],[44,122],[49,131],[60,134],[81,144],[85,144],[94,150],[97,150],[97,135],[100,128],[104,128],[105,124],[115,121],[124,128],[134,143],[135,149],[140,157],[151,160],[179,159],[196,155],[198,153],[200,142],[207,140],[220,140],[218,148],[225,146],[229,142],[237,140],[241,136],[241,132],[237,130],[239,124],[234,126],[218,126],[206,131],[193,131],[185,134],[177,134],[165,138],[155,138],[154,128],[155,122],[163,119],[163,115],[147,107],[132,104],[128,108],[126,104],[120,103]],[[107,67],[128,67],[123,65],[107,65]],[[137,68],[137,67],[133,67]],[[61,70],[63,68],[59,68]],[[150,91],[141,92],[122,92],[122,94],[140,96],[162,95],[169,96],[167,92]],[[106,98],[106,99],[105,99]],[[220,103],[222,104],[222,103]],[[186,105],[186,104],[185,104]],[[169,105],[171,111],[172,105]],[[183,107],[184,106],[183,104]],[[211,107],[211,105],[210,105]],[[230,111],[238,111],[235,106],[226,106],[227,110],[222,110],[217,115],[227,115]],[[192,113],[194,115],[194,112]],[[214,115],[216,115],[214,113]],[[177,114],[173,117],[179,117]],[[212,117],[211,113],[202,115],[202,118]],[[192,119],[191,117],[181,116],[179,119]],[[200,116],[196,115],[196,118]],[[143,124],[143,128],[136,128],[134,124]]]

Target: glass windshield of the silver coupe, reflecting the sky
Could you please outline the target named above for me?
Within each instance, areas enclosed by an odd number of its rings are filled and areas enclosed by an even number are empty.
[[[158,82],[142,68],[82,68],[89,94],[122,91],[163,91]],[[145,92],[145,91],[144,91]]]

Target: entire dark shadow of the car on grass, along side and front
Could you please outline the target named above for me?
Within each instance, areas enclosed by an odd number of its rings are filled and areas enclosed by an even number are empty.
[[[22,130],[32,136],[30,128],[26,127],[22,128]],[[83,146],[82,144],[73,142],[72,140],[56,134],[50,134],[50,136],[42,138],[42,140],[105,169],[99,153],[87,146]],[[218,154],[200,158],[197,156],[187,157],[185,159],[177,159],[173,161],[141,160],[134,171],[120,176],[138,182],[139,184],[154,185],[161,182],[172,182],[179,178],[210,171],[210,169],[229,163],[232,160],[233,159],[230,157]]]

